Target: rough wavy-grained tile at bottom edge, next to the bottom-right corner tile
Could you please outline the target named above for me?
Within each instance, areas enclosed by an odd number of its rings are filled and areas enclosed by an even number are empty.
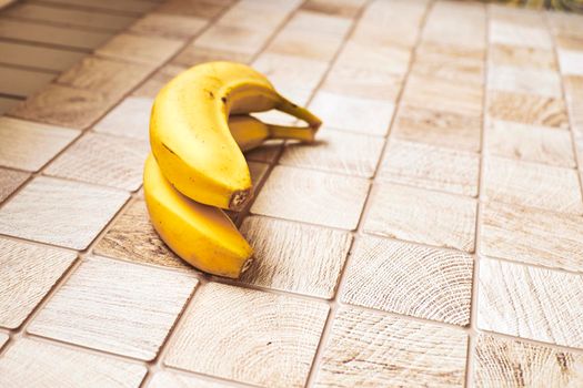
[[[315,387],[462,387],[468,336],[452,328],[342,308]]]

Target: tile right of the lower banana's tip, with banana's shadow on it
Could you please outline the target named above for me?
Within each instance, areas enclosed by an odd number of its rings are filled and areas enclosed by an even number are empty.
[[[334,296],[352,237],[346,232],[247,217],[241,233],[254,261],[241,282],[316,297]]]

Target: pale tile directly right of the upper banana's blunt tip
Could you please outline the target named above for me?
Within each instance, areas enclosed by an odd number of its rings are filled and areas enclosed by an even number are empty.
[[[368,193],[369,182],[364,178],[277,166],[251,212],[354,229]]]

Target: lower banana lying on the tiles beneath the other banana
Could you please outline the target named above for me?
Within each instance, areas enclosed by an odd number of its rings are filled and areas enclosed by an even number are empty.
[[[187,198],[164,178],[152,154],[143,171],[150,219],[164,243],[204,272],[237,278],[250,265],[253,249],[231,218],[217,207]]]

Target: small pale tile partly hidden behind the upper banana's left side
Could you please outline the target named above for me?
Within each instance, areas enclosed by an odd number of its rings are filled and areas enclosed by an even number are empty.
[[[148,141],[153,100],[129,96],[111,110],[93,131]]]

